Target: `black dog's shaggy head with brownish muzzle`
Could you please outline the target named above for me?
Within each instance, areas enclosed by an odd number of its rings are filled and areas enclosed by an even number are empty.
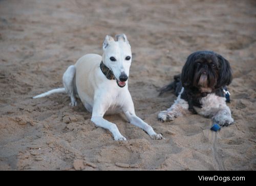
[[[211,92],[231,83],[231,68],[221,55],[211,51],[198,51],[188,56],[182,69],[181,81],[184,87]]]

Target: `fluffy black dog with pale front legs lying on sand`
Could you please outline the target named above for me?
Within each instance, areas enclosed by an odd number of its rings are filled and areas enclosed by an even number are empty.
[[[168,110],[159,113],[159,120],[173,120],[187,109],[210,116],[220,125],[230,125],[233,119],[226,106],[224,92],[227,92],[226,86],[231,81],[230,64],[221,55],[212,51],[190,54],[181,75],[175,76],[174,82],[160,89],[160,95],[174,89],[178,99]]]

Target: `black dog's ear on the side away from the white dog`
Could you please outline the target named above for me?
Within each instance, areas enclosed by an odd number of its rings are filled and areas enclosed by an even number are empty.
[[[219,61],[219,81],[217,86],[229,85],[232,81],[232,70],[228,60],[217,54]]]

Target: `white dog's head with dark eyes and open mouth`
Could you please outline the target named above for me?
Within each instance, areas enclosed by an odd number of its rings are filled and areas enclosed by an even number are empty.
[[[116,41],[111,36],[105,37],[102,61],[113,72],[118,86],[124,87],[132,62],[131,45],[125,34],[116,35]]]

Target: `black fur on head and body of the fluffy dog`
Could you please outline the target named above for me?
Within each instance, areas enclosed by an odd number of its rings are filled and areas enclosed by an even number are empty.
[[[159,95],[174,89],[178,96],[184,87],[181,98],[188,102],[188,109],[196,114],[194,106],[201,107],[201,98],[211,93],[225,97],[223,88],[231,81],[231,67],[224,57],[212,51],[197,51],[188,56],[182,73],[174,76],[174,82],[162,87]]]

